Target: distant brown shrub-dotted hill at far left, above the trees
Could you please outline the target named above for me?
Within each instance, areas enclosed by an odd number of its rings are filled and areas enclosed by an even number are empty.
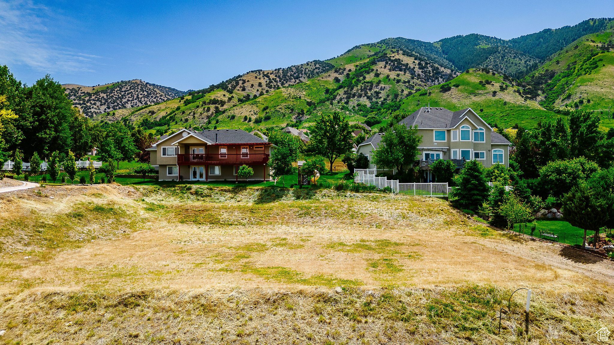
[[[77,84],[63,84],[74,106],[79,107],[88,117],[112,110],[139,107],[177,98],[187,92],[142,80],[87,87]]]

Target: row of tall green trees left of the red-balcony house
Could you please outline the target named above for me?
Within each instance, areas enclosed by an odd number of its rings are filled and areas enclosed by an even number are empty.
[[[80,114],[49,75],[32,86],[0,66],[0,163],[82,158],[94,147],[104,161],[149,161],[151,133],[129,122],[95,123]]]

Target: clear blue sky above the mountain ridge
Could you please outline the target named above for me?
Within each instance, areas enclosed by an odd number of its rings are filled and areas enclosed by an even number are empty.
[[[142,79],[179,90],[386,37],[503,39],[614,17],[609,1],[0,0],[0,64],[31,85]]]

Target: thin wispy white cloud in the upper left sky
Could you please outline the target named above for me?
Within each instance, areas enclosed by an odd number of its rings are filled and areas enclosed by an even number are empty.
[[[24,64],[44,73],[92,72],[99,56],[49,44],[45,22],[58,21],[47,7],[31,1],[0,0],[0,64]]]

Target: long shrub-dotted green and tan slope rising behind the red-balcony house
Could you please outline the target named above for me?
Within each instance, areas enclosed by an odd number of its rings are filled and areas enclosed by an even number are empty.
[[[357,66],[365,61],[372,61],[368,72],[356,74]],[[329,70],[308,79],[310,74],[325,69]],[[119,120],[128,116],[133,122],[158,132],[181,126],[246,130],[295,122],[307,126],[313,123],[314,115],[334,111],[344,112],[352,121],[360,121],[369,107],[403,98],[412,90],[437,85],[454,76],[450,69],[416,53],[365,45],[328,61],[312,61],[274,71],[252,71],[190,93],[185,99],[118,110],[96,118]],[[351,85],[337,90],[348,78],[352,80]],[[325,100],[328,101],[324,103]]]

